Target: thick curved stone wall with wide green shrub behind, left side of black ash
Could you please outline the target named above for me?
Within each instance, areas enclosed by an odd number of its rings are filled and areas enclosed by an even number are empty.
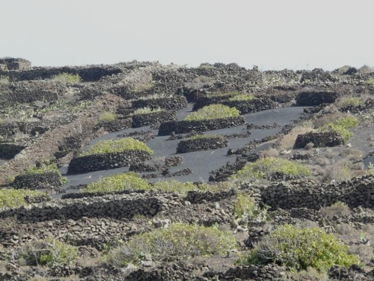
[[[100,170],[110,170],[151,159],[151,154],[143,150],[128,150],[124,152],[94,154],[72,158],[68,174],[79,174]]]

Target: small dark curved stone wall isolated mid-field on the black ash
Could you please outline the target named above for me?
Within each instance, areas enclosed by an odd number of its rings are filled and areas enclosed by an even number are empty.
[[[193,151],[210,150],[227,147],[229,140],[224,136],[199,137],[181,140],[177,146],[177,153],[188,153]]]

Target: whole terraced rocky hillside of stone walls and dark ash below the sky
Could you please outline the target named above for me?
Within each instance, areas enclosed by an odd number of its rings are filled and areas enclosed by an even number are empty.
[[[0,66],[0,280],[374,279],[369,67]],[[188,120],[214,104],[238,116]],[[128,137],[152,156],[82,158]]]

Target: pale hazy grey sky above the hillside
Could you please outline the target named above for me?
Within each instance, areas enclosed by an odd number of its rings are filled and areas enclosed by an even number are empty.
[[[0,57],[374,66],[372,0],[0,0]]]

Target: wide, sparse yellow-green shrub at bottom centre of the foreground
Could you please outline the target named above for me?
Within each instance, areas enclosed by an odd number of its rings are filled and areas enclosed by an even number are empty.
[[[216,227],[171,224],[167,229],[156,229],[134,236],[113,250],[107,262],[117,267],[136,264],[145,256],[153,261],[174,261],[192,256],[223,255],[236,249],[237,242],[229,232]]]

